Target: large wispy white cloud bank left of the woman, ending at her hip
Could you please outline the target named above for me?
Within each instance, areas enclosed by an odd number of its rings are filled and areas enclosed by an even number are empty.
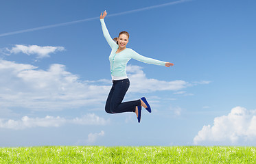
[[[109,90],[110,85],[80,81],[60,64],[38,70],[30,64],[0,59],[1,108],[73,109],[104,102]]]

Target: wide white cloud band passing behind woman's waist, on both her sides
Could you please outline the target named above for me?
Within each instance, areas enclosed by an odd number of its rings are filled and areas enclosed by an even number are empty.
[[[131,81],[128,92],[176,91],[189,86],[185,81],[148,79],[139,66],[128,66],[127,72]],[[80,81],[78,75],[68,72],[61,64],[52,64],[48,70],[40,70],[30,64],[0,59],[2,109],[19,107],[52,111],[91,106],[102,108],[110,87],[110,79]]]

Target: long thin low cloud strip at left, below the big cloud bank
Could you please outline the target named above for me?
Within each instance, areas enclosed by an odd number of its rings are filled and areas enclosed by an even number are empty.
[[[109,120],[100,118],[94,113],[83,115],[81,118],[65,119],[59,116],[53,117],[47,115],[45,118],[29,118],[24,116],[21,120],[3,120],[0,119],[0,128],[24,129],[33,127],[59,127],[64,124],[81,124],[81,125],[105,125]]]

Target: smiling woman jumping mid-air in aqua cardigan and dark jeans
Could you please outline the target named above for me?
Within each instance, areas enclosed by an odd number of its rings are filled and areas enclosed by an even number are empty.
[[[112,49],[109,55],[109,61],[113,85],[106,100],[105,111],[106,113],[135,112],[138,122],[140,122],[141,106],[150,113],[151,108],[145,97],[139,100],[122,102],[130,85],[130,81],[126,75],[126,64],[130,59],[136,59],[144,63],[156,64],[166,67],[173,66],[174,64],[151,59],[149,57],[143,57],[132,49],[126,48],[126,45],[129,41],[129,33],[126,31],[121,31],[118,38],[114,38],[112,40],[108,33],[108,29],[106,28],[106,24],[104,23],[104,18],[106,14],[106,10],[103,12],[103,14],[100,14],[100,22],[102,24],[102,31],[104,37],[106,38],[106,41]]]

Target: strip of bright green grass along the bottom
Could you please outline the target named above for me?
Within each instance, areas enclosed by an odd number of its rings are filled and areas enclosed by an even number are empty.
[[[256,163],[256,147],[43,146],[0,148],[0,163]]]

